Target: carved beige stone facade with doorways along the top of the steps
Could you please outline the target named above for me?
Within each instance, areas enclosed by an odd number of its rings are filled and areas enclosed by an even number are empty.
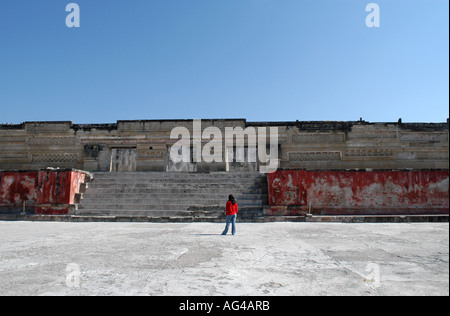
[[[202,130],[278,128],[279,169],[448,169],[447,123],[247,122],[203,120]],[[185,127],[194,142],[192,120],[118,121],[114,124],[25,122],[0,125],[0,169],[47,167],[87,171],[255,171],[257,163],[230,159],[175,164],[169,159],[175,127]],[[269,137],[269,133],[267,133]],[[201,140],[204,146],[209,140]],[[248,156],[248,139],[244,140]],[[269,143],[269,142],[267,142]],[[259,150],[261,150],[259,148]],[[209,152],[209,151],[208,151]],[[213,151],[211,150],[211,154]],[[191,158],[196,152],[191,149]],[[254,154],[254,153],[252,153]]]

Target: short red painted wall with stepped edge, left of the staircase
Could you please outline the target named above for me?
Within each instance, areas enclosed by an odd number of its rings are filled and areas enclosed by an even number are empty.
[[[68,214],[87,173],[74,170],[0,172],[0,212]]]

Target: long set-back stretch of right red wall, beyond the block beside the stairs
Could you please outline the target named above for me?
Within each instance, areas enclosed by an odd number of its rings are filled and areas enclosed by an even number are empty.
[[[448,172],[308,172],[308,202],[346,209],[448,208]]]

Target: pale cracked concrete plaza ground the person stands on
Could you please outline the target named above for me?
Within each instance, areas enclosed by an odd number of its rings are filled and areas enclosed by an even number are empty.
[[[449,225],[0,222],[0,295],[449,295]]]

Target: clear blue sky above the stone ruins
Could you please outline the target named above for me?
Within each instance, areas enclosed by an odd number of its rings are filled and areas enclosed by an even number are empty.
[[[448,86],[448,0],[0,0],[0,123],[445,122]]]

